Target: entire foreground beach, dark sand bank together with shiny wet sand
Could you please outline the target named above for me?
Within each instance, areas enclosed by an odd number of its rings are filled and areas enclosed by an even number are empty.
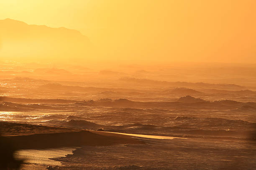
[[[10,122],[1,122],[1,125],[5,127],[2,132],[9,130],[6,138],[19,141],[16,145],[19,158],[29,155],[22,165],[22,169],[26,170],[41,170],[48,165],[57,166],[59,170],[256,168],[253,156],[256,152],[253,147],[255,141],[184,139]],[[18,133],[17,127],[20,127]],[[41,128],[42,133],[34,134],[33,128]],[[67,146],[69,148],[59,148]]]

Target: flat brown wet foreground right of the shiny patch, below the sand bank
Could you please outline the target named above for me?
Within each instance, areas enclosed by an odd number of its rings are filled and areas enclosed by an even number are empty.
[[[255,170],[255,142],[150,139],[146,145],[83,146],[52,158],[62,170]],[[253,156],[254,155],[254,156]]]

